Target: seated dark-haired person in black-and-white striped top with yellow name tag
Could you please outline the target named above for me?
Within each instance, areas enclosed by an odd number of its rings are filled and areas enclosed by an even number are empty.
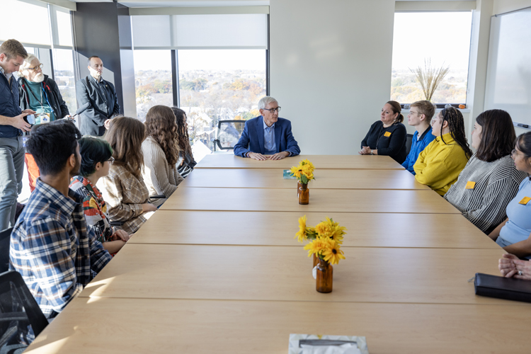
[[[510,158],[515,139],[513,120],[505,110],[478,115],[472,131],[476,153],[444,197],[486,234],[506,219],[506,207],[526,176]]]

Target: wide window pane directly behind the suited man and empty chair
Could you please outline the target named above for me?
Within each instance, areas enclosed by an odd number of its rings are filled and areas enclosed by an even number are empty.
[[[219,120],[248,120],[265,96],[265,50],[179,50],[181,108],[193,144],[214,149]],[[227,137],[228,139],[228,137]]]

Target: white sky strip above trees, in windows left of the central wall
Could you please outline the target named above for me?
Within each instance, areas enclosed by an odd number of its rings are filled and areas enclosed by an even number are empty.
[[[135,70],[170,70],[170,50],[135,50]],[[178,50],[179,71],[265,70],[265,50]]]

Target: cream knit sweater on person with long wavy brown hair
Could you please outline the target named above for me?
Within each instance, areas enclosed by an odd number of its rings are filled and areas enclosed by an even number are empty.
[[[176,165],[169,166],[166,154],[153,137],[147,137],[142,142],[144,154],[144,169],[142,177],[146,183],[149,195],[164,195],[166,199],[159,199],[154,204],[161,205],[175,192],[183,177],[177,172]]]

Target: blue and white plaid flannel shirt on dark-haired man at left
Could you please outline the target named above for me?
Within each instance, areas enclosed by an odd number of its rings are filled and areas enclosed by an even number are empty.
[[[11,233],[11,270],[21,273],[42,313],[52,318],[110,261],[86,229],[83,205],[37,179]],[[72,200],[72,199],[76,200]]]

